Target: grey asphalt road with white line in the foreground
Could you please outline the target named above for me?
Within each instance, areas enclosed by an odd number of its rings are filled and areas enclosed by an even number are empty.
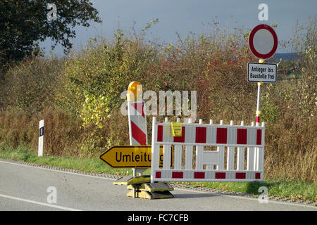
[[[6,210],[315,210],[316,206],[268,201],[203,191],[175,189],[174,198],[147,200],[126,196],[113,179],[43,169],[0,160],[0,211]],[[56,188],[56,203],[48,203]],[[49,190],[50,191],[50,190]]]

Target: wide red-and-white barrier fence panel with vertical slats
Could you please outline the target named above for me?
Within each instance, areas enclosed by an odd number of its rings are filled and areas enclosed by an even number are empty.
[[[192,124],[189,119],[187,123],[182,123],[181,130],[181,136],[172,136],[171,122],[168,122],[167,118],[165,122],[157,122],[156,117],[153,117],[152,183],[263,181],[263,122],[261,127],[255,127],[254,122],[251,126],[244,126],[244,122],[241,125],[233,125],[232,121],[230,125],[224,125],[223,121],[213,124],[212,120],[209,124],[203,124],[202,120],[199,120],[199,124]],[[163,145],[162,168],[159,167],[160,145]],[[174,146],[173,156],[170,154],[170,146]],[[173,167],[170,167],[171,160]]]

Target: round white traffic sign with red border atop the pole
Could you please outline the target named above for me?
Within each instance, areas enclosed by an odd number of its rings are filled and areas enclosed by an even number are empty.
[[[278,49],[278,36],[269,25],[257,25],[249,34],[249,47],[257,58],[271,58]]]

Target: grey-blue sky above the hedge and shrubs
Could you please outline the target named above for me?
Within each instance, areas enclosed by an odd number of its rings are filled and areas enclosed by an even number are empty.
[[[54,3],[57,0],[51,0]],[[79,51],[92,37],[111,39],[118,28],[136,32],[151,20],[158,18],[147,33],[148,39],[161,42],[175,42],[180,35],[182,39],[190,32],[201,34],[209,32],[214,21],[221,27],[252,29],[256,25],[277,24],[275,32],[279,40],[292,38],[297,20],[300,24],[309,21],[309,15],[316,15],[316,0],[90,0],[99,11],[102,23],[91,23],[90,27],[75,27],[76,38],[72,39],[73,49]],[[259,20],[260,4],[268,5],[268,20]],[[57,9],[58,13],[58,9]],[[46,55],[51,49],[51,39],[46,39],[40,46]],[[292,49],[280,49],[277,53],[292,52]],[[53,53],[63,55],[60,44]]]

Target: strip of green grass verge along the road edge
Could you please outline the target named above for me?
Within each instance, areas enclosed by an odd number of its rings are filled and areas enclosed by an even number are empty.
[[[0,158],[34,162],[42,165],[51,165],[69,169],[78,169],[83,172],[105,173],[116,175],[132,175],[132,169],[113,169],[99,158],[70,158],[61,156],[38,157],[26,146],[12,148],[3,143],[0,144]],[[144,174],[150,174],[147,169]],[[256,197],[261,186],[268,188],[268,195],[294,200],[310,200],[317,202],[317,184],[309,184],[304,181],[285,181],[278,179],[264,180],[263,182],[178,182],[191,186],[215,188],[225,191],[253,193]]]

